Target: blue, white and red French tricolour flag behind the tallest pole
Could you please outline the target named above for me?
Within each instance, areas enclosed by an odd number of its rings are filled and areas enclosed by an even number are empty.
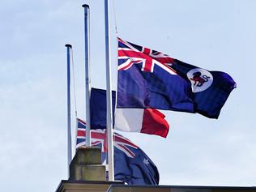
[[[166,138],[169,123],[164,114],[157,109],[115,109],[116,92],[112,92],[113,125],[115,130],[156,134]],[[91,90],[91,127],[106,128],[106,91],[92,88]]]

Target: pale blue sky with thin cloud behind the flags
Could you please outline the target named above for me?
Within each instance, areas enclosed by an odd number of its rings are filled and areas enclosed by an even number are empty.
[[[73,45],[77,110],[84,118],[84,3],[91,9],[92,87],[105,88],[103,0],[0,2],[2,190],[54,191],[67,179],[65,45]],[[110,7],[113,89],[117,36],[224,71],[237,83],[218,120],[164,111],[166,139],[122,133],[154,161],[160,185],[256,186],[256,1],[110,0]],[[72,104],[75,139],[74,94]]]

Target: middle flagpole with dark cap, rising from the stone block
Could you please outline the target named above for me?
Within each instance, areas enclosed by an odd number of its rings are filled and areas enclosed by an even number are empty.
[[[90,7],[86,4],[84,8],[84,45],[85,45],[85,109],[86,109],[86,146],[91,146],[91,116],[90,116],[90,96],[91,96],[91,75],[90,75]]]

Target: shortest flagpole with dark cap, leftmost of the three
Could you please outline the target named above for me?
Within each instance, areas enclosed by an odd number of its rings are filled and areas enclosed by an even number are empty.
[[[70,49],[72,45],[66,44],[66,71],[67,71],[67,174],[70,173],[70,163],[72,159],[71,150],[71,114],[70,114]]]

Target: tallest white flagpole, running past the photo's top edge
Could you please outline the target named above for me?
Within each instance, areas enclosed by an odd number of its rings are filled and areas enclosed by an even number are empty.
[[[114,181],[113,173],[113,114],[111,92],[111,54],[110,54],[110,30],[109,30],[109,0],[105,0],[105,57],[106,57],[106,83],[107,83],[107,131],[108,131],[108,162],[109,181]]]

